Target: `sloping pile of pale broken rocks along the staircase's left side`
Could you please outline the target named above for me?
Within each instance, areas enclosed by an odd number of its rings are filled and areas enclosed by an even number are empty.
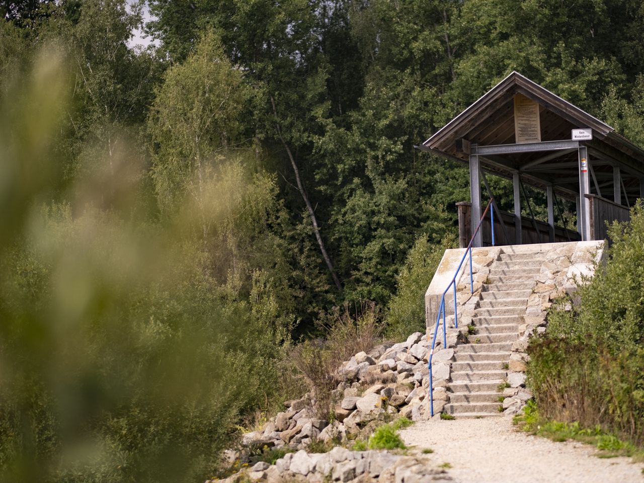
[[[455,341],[454,341],[455,343]],[[423,404],[429,388],[427,366],[430,343],[421,332],[404,342],[382,344],[368,354],[359,352],[343,363],[333,391],[336,404],[332,422],[317,419],[310,408],[310,395],[285,403],[287,409],[265,424],[263,430],[243,435],[247,448],[305,449],[312,440],[345,440],[347,435],[368,435],[386,420],[404,416],[412,421],[428,417]],[[435,349],[433,385],[436,401],[444,400],[454,350]]]

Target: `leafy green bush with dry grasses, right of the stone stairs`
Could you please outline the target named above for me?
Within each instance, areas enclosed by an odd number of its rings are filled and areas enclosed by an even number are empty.
[[[598,426],[644,445],[644,209],[614,223],[605,266],[531,341],[528,381],[546,419]],[[569,310],[566,310],[569,309]]]

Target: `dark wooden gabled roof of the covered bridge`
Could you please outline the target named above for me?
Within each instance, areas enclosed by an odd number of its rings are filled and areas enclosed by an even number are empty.
[[[513,99],[516,94],[522,94],[539,104],[542,141],[570,140],[573,129],[591,128],[593,138],[583,144],[589,147],[590,158],[593,160],[595,171],[599,173],[598,178],[609,176],[609,172],[612,173],[612,166],[620,166],[625,171],[625,175],[629,173],[630,176],[630,180],[625,177],[627,191],[629,189],[633,193],[636,190],[639,191],[638,178],[644,177],[644,151],[639,146],[616,133],[615,129],[605,122],[516,71],[510,73],[469,108],[439,129],[419,148],[467,162],[468,153],[457,149],[459,139],[478,146],[514,144]],[[482,160],[482,166],[488,171],[510,176],[512,172],[522,171],[524,166],[533,166],[535,160],[542,156],[544,153],[539,152],[503,155]],[[531,168],[529,172],[524,173],[525,179],[538,187],[553,183],[558,185],[560,191],[574,193],[578,191],[578,183],[573,180],[577,168],[572,166],[576,159],[576,153],[562,153],[553,160],[568,162],[569,173],[562,173],[560,167],[556,167],[556,171],[553,172]],[[546,166],[554,165],[551,162]],[[561,166],[563,167],[563,164]],[[562,176],[564,174],[565,176]],[[563,178],[571,178],[569,185],[560,182]]]

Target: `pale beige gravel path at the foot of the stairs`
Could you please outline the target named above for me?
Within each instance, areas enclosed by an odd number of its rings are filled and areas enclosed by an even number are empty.
[[[644,482],[644,465],[630,458],[600,459],[588,444],[517,432],[509,417],[432,419],[401,436],[408,446],[434,450],[432,461],[450,463],[448,473],[463,483]]]

